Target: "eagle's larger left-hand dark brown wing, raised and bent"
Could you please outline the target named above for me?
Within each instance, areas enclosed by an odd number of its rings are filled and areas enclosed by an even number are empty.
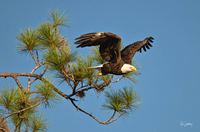
[[[121,59],[121,37],[111,32],[93,32],[75,39],[77,47],[100,45],[99,52],[103,60],[116,62]]]

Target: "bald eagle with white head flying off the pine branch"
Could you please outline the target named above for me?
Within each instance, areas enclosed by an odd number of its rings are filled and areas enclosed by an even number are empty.
[[[137,69],[131,65],[131,60],[137,51],[146,51],[152,47],[153,37],[147,37],[142,41],[137,41],[121,50],[121,37],[111,32],[93,32],[83,34],[76,38],[77,47],[99,46],[99,52],[105,61],[100,66],[92,68],[100,69],[99,75],[123,75],[129,72],[136,72]]]

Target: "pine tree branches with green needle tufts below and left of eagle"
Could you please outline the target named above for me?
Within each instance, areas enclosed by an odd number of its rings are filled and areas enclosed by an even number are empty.
[[[72,52],[67,39],[60,32],[66,25],[65,17],[57,11],[51,12],[50,17],[50,21],[35,29],[27,28],[17,36],[20,42],[17,50],[30,55],[35,65],[32,71],[0,73],[0,78],[12,78],[16,83],[15,88],[5,88],[0,93],[0,121],[3,122],[0,123],[0,131],[9,131],[6,125],[8,119],[15,132],[45,131],[47,124],[40,116],[38,108],[41,105],[49,106],[59,98],[66,99],[78,111],[105,125],[116,121],[136,105],[138,98],[132,88],[105,92],[106,103],[103,107],[113,111],[105,121],[78,105],[79,98],[84,98],[88,91],[94,90],[101,94],[107,87],[112,87],[113,83],[120,83],[124,78],[131,78],[131,75],[122,76],[118,80],[114,80],[113,75],[98,76],[98,71],[88,68],[102,63],[98,50],[94,49],[85,58]],[[56,77],[53,78],[54,81],[50,78],[51,74]],[[27,79],[26,86],[22,85],[21,78]],[[66,82],[66,87],[71,92],[64,93],[59,88],[60,85],[52,83],[57,78],[60,82]]]

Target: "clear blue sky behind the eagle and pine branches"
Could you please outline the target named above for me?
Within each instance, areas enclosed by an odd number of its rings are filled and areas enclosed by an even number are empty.
[[[135,56],[142,73],[133,86],[141,98],[137,110],[114,124],[102,126],[61,101],[42,111],[49,123],[48,132],[198,132],[199,7],[199,0],[1,0],[0,72],[30,72],[29,57],[16,52],[16,36],[24,28],[45,21],[53,9],[68,16],[70,27],[64,28],[63,34],[71,44],[78,35],[93,31],[117,33],[124,45],[152,35],[154,47]],[[84,50],[73,50],[86,54]],[[0,90],[10,82],[1,79]],[[127,84],[132,85],[128,81]],[[101,95],[93,93],[83,101],[88,101],[85,106],[98,116],[107,114],[97,110],[101,109]],[[193,126],[182,127],[181,121]]]

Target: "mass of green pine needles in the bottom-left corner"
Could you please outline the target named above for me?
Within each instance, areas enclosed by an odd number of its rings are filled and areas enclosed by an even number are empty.
[[[6,113],[9,113],[6,118],[11,117],[16,131],[21,126],[32,130],[46,129],[45,122],[41,117],[36,116],[36,106],[39,105],[40,100],[40,98],[31,97],[19,88],[6,89],[0,94],[0,106],[5,109]],[[35,120],[40,120],[40,122],[35,122]],[[37,125],[38,123],[41,125]],[[32,126],[35,127],[32,128]]]

